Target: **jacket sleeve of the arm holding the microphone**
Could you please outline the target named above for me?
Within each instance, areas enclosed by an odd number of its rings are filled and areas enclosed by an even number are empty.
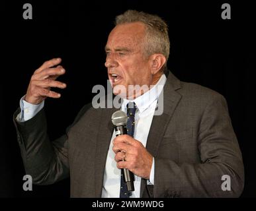
[[[204,109],[198,131],[201,163],[177,163],[155,158],[154,197],[237,197],[244,184],[239,144],[223,96]],[[225,182],[230,177],[230,191]]]

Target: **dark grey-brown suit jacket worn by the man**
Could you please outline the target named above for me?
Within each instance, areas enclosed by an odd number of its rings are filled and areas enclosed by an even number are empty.
[[[141,196],[241,195],[243,161],[224,97],[171,73],[163,96],[163,114],[153,117],[146,146],[155,158],[154,185],[142,179]],[[48,185],[70,176],[71,197],[101,197],[113,131],[110,119],[116,110],[86,105],[67,133],[52,142],[44,109],[24,123],[15,120],[22,160],[33,183]],[[231,191],[222,190],[222,175],[230,176]]]

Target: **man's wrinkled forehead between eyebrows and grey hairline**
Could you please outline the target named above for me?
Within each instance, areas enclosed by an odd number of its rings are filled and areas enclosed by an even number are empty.
[[[145,37],[145,26],[140,22],[120,24],[113,28],[108,36],[106,47],[116,46],[137,47]]]

